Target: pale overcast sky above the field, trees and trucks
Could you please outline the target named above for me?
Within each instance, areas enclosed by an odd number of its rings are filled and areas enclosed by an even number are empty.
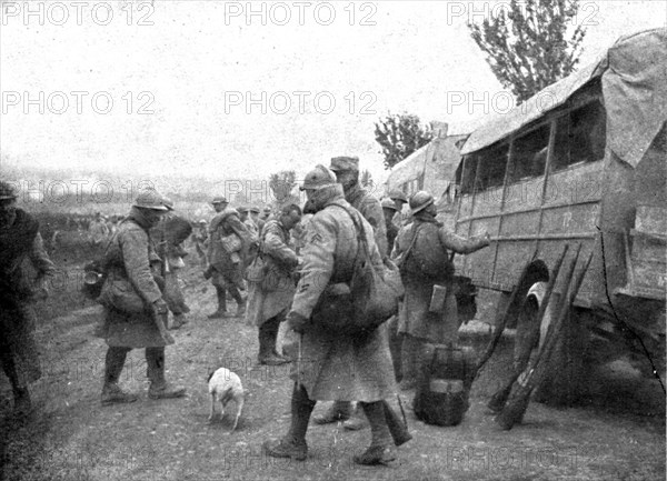
[[[378,117],[407,111],[459,133],[502,97],[466,27],[501,2],[317,4],[252,2],[248,17],[247,2],[31,2],[26,17],[4,1],[2,154],[231,179],[349,153],[379,180]],[[661,0],[581,6],[584,63],[620,34],[667,26]],[[467,101],[485,92],[486,104]]]

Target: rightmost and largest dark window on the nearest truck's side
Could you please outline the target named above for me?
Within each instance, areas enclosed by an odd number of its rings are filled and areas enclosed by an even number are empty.
[[[604,106],[591,102],[559,118],[551,170],[601,160],[607,140],[606,117]]]

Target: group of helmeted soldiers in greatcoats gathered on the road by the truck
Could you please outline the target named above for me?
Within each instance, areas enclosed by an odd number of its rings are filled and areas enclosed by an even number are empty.
[[[356,455],[355,461],[386,463],[396,458],[395,445],[409,437],[397,439],[385,400],[395,394],[399,381],[399,389],[414,389],[421,344],[457,339],[454,267],[448,251],[472,252],[488,245],[489,238],[487,234],[462,239],[449,232],[436,220],[435,199],[428,192],[417,192],[408,200],[396,191],[378,200],[360,186],[356,157],[332,158],[328,168],[316,166],[300,189],[307,197],[303,209],[288,204],[265,219],[260,219],[259,210],[247,209],[243,213],[243,209],[241,212],[231,209],[223,197],[213,199],[216,216],[208,228],[200,222],[195,231],[198,252],[203,253],[203,274],[217,293],[217,309],[209,318],[246,317],[247,322],[258,328],[258,361],[291,362],[291,423],[285,437],[263,444],[268,455],[306,459],[306,432],[316,401],[334,401],[313,422],[346,421],[349,429],[370,425],[370,447]],[[8,219],[6,212],[13,211],[18,220],[29,214],[16,216],[22,211],[14,207],[16,196],[7,192],[0,196],[3,290],[8,289],[6,279],[14,275],[14,258],[30,257],[40,275],[52,269],[48,258],[41,255],[39,237],[29,229],[30,223],[23,232],[21,222],[17,227],[17,221]],[[409,203],[407,216],[405,203]],[[108,344],[101,394],[104,404],[137,400],[137,394],[126,392],[118,383],[127,353],[135,348],[146,349],[150,398],[178,398],[186,392],[165,378],[165,348],[169,342],[156,322],[171,307],[166,302],[163,285],[153,275],[152,267],[163,263],[163,259],[156,252],[150,233],[172,208],[157,191],[141,193],[107,249],[111,253],[101,295],[107,301],[102,302],[103,323],[98,329]],[[305,229],[303,214],[309,216]],[[295,245],[295,228],[301,228],[300,248]],[[2,236],[6,230],[14,229],[18,230],[11,236],[32,236],[31,241],[17,252],[6,252],[9,240]],[[398,315],[370,334],[351,339],[321,329],[312,314],[323,309],[318,301],[325,290],[349,283],[359,236],[366,237],[370,261],[378,270],[388,259],[405,258],[400,272],[406,293]],[[447,288],[446,309],[439,313],[429,310],[435,284]],[[228,293],[236,301],[235,314],[227,309]],[[12,314],[4,309],[0,314],[3,330],[6,324],[21,323],[14,322],[12,315],[29,318],[23,312],[27,302],[20,295],[17,299],[16,305],[10,305]],[[276,338],[282,322],[289,333],[288,342],[283,352],[278,352]],[[16,353],[16,345],[13,351],[11,345],[3,347],[2,365],[16,387],[17,407],[24,409],[21,403],[26,404],[26,382],[30,379],[19,379],[12,371],[12,355],[6,354]],[[293,362],[297,359],[300,362]]]

